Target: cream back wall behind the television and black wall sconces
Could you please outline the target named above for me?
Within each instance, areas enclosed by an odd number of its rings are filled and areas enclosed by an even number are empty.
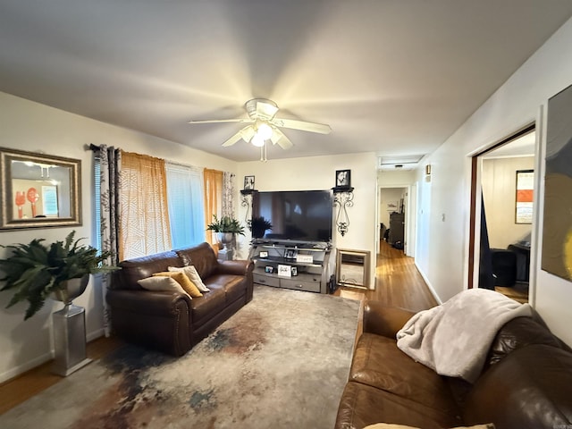
[[[307,158],[270,159],[265,163],[253,161],[240,163],[238,182],[244,176],[256,177],[256,189],[304,190],[331,189],[335,186],[336,170],[351,170],[351,186],[354,187],[354,206],[348,208],[349,229],[342,237],[335,229],[333,246],[371,252],[370,284],[374,285],[376,223],[376,157],[374,153],[343,156],[313,156]],[[240,207],[240,220],[246,208]],[[250,237],[240,237],[240,255],[246,257]],[[331,258],[335,258],[332,252]]]

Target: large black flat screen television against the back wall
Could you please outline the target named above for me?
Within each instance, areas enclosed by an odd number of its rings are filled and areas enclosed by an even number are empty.
[[[255,192],[252,217],[263,216],[272,223],[255,240],[324,241],[332,240],[331,190],[281,190]]]

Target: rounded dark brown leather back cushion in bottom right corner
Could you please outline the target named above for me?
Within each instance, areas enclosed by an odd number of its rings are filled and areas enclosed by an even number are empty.
[[[491,366],[467,396],[466,424],[497,429],[570,427],[572,353],[546,345],[517,349]]]

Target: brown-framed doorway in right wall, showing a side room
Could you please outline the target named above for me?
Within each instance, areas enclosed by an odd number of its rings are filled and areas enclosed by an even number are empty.
[[[534,254],[534,124],[473,157],[469,288],[528,302]]]

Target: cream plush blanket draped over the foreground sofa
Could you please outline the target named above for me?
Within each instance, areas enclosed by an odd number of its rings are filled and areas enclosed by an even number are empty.
[[[532,315],[528,304],[492,290],[464,290],[411,317],[397,333],[397,346],[437,374],[474,383],[501,326],[523,315]]]

